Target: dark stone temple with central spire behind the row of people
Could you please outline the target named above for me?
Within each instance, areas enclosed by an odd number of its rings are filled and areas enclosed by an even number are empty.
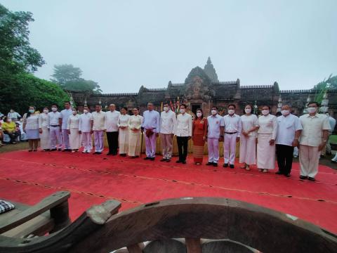
[[[298,84],[296,84],[298,86]],[[117,105],[117,108],[126,107],[131,113],[132,108],[139,107],[143,112],[147,108],[147,103],[152,102],[157,110],[161,110],[161,103],[186,103],[192,112],[197,108],[202,108],[206,115],[211,107],[216,105],[219,110],[225,111],[227,105],[234,103],[237,105],[237,114],[242,115],[244,106],[249,103],[256,105],[259,110],[263,105],[270,105],[272,113],[279,111],[280,106],[289,104],[296,115],[303,114],[303,110],[308,101],[315,98],[317,91],[314,89],[288,90],[279,89],[279,84],[241,86],[240,80],[220,82],[216,70],[211,63],[211,58],[202,69],[194,67],[187,75],[185,82],[173,84],[171,81],[165,88],[148,89],[140,86],[137,93],[103,93],[88,94],[81,92],[71,92],[72,99],[79,110],[87,104],[94,110],[96,104],[101,104],[107,108],[110,103]],[[337,90],[326,92],[329,100],[329,112],[331,116],[337,116]]]

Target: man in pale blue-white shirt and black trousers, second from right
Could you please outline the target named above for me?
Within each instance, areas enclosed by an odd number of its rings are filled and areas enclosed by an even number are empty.
[[[300,119],[291,113],[289,105],[282,106],[282,116],[277,117],[276,155],[278,175],[290,176],[293,164],[293,148],[298,146],[302,131]]]

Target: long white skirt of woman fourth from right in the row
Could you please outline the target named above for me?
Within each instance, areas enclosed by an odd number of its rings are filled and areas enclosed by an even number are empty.
[[[256,136],[240,137],[240,163],[256,164]]]

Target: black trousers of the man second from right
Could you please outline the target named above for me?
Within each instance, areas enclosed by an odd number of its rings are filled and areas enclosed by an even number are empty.
[[[276,145],[277,165],[282,174],[289,174],[293,164],[293,147],[289,145]]]

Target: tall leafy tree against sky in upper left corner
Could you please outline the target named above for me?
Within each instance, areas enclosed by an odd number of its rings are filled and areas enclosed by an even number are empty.
[[[32,13],[8,11],[0,4],[0,74],[34,72],[44,65],[40,53],[29,44]]]

